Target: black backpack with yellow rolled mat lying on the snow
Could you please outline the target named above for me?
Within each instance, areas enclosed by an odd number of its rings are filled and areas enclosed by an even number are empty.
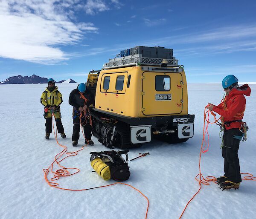
[[[112,178],[115,181],[122,182],[130,177],[128,152],[129,150],[91,152],[90,163],[102,179],[109,180]],[[122,158],[122,154],[126,155],[126,161]]]

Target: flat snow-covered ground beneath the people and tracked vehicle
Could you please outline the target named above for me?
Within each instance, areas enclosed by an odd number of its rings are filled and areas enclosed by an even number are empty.
[[[45,84],[15,84],[0,86],[0,218],[1,219],[143,219],[146,199],[131,187],[114,185],[87,190],[65,191],[50,187],[43,169],[49,167],[56,154],[62,151],[53,133],[45,140],[45,120],[41,93]],[[80,134],[79,145],[72,147],[72,107],[69,94],[77,84],[58,84],[63,95],[62,122],[66,139],[59,142],[69,152],[81,148],[84,139]],[[256,85],[247,98],[244,121],[249,126],[247,141],[240,143],[241,172],[256,176]],[[223,90],[220,84],[189,84],[189,113],[195,114],[195,134],[182,144],[167,144],[153,140],[140,148],[130,150],[129,158],[149,152],[142,158],[129,162],[130,179],[125,182],[139,189],[148,197],[148,219],[179,218],[186,203],[198,191],[195,176],[202,140],[204,107],[208,102],[220,103]],[[219,127],[209,125],[210,148],[202,155],[201,170],[206,176],[221,176],[224,160],[221,157]],[[90,152],[107,150],[93,137],[95,146],[85,147],[79,155],[65,159],[64,167],[77,167],[80,172],[58,180],[61,187],[84,189],[107,185],[91,172]],[[51,176],[49,174],[49,176]],[[192,200],[182,218],[256,218],[256,182],[243,181],[239,190],[222,191],[217,184],[202,185],[200,193]]]

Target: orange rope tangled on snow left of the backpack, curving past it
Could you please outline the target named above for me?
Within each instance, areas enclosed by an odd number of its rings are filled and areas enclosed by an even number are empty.
[[[53,126],[53,133],[54,133],[54,136],[55,136],[55,139],[56,139],[56,142],[58,143],[59,146],[63,147],[64,149],[58,153],[56,156],[55,156],[55,159],[54,161],[52,162],[52,164],[44,169],[44,179],[45,181],[47,182],[47,184],[50,186],[50,187],[55,187],[55,188],[58,188],[58,189],[61,189],[61,190],[68,190],[68,191],[85,191],[85,190],[90,190],[90,189],[96,189],[96,188],[103,188],[103,187],[108,187],[108,186],[112,186],[112,185],[115,185],[115,184],[122,184],[122,185],[126,185],[126,186],[129,186],[131,188],[133,188],[134,190],[136,190],[138,193],[140,193],[148,202],[148,205],[147,205],[147,210],[146,210],[146,214],[145,214],[145,219],[147,218],[147,215],[148,215],[148,207],[149,207],[149,200],[147,198],[147,196],[145,196],[140,190],[138,190],[137,188],[133,187],[132,185],[130,184],[125,184],[125,183],[122,183],[122,182],[116,182],[116,183],[113,183],[113,184],[109,184],[109,185],[104,185],[104,186],[97,186],[97,187],[92,187],[92,188],[87,188],[87,189],[67,189],[67,188],[62,188],[62,187],[59,187],[58,183],[55,183],[55,182],[50,182],[49,179],[48,179],[48,173],[51,171],[53,174],[54,174],[54,177],[52,177],[50,180],[51,181],[55,181],[55,180],[58,180],[60,179],[61,177],[66,177],[66,176],[72,176],[76,173],[78,173],[80,170],[78,168],[65,168],[63,166],[61,166],[60,162],[63,161],[64,159],[66,159],[67,157],[70,157],[70,156],[76,156],[78,155],[78,152],[83,150],[84,149],[84,146],[82,147],[82,149],[80,150],[77,150],[75,152],[66,152],[67,151],[67,147],[60,144],[58,142],[58,138],[57,138],[57,130],[56,130],[56,133],[55,133],[55,129],[54,129],[54,122],[53,122],[53,116],[54,114],[52,114],[52,126]],[[86,145],[85,145],[86,146]],[[64,153],[66,152],[66,154],[68,156],[64,157],[61,159],[61,156],[64,155]],[[61,160],[58,160],[58,159],[61,159]],[[58,164],[59,167],[61,167],[60,169],[54,171],[53,170],[53,165],[54,164]],[[70,173],[70,171],[68,170],[75,170],[74,173]]]

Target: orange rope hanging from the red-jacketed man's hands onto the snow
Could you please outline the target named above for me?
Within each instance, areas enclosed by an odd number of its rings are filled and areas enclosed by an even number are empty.
[[[206,106],[207,107],[207,106]],[[206,153],[208,150],[209,150],[209,133],[208,133],[208,125],[209,124],[218,124],[218,121],[221,119],[218,118],[216,119],[216,115],[215,113],[211,112],[211,111],[206,111],[206,107],[204,108],[204,128],[203,128],[203,140],[202,140],[202,144],[201,144],[201,150],[200,150],[200,155],[199,155],[199,174],[195,177],[196,181],[198,181],[198,184],[199,184],[199,189],[198,191],[195,193],[195,195],[189,200],[189,202],[186,204],[185,208],[183,209],[181,215],[180,215],[180,218],[183,216],[183,213],[185,212],[187,206],[189,205],[189,203],[192,201],[192,199],[194,199],[194,197],[199,193],[199,191],[201,190],[201,184],[204,184],[204,185],[209,185],[209,182],[213,181],[214,183],[217,184],[216,182],[216,178],[214,176],[207,176],[206,179],[204,178],[203,174],[201,173],[201,154],[202,153]],[[209,121],[209,112],[211,112],[211,114],[214,116],[214,122],[210,122]],[[208,115],[207,115],[208,114]],[[205,125],[205,121],[207,121],[207,124]],[[205,135],[208,135],[208,141],[206,142],[205,141]],[[203,147],[204,145],[204,142],[205,142],[205,146]],[[207,150],[204,150],[204,148],[207,147]],[[241,174],[247,174],[249,176],[244,176],[244,178],[242,178],[243,180],[254,180],[256,181],[256,177],[253,177],[252,174],[250,173],[241,173]],[[198,179],[198,176],[199,176],[199,179]]]

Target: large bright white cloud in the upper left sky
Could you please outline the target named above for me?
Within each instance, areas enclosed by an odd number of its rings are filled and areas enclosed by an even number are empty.
[[[0,1],[0,57],[38,63],[69,59],[60,45],[76,44],[93,23],[74,23],[77,0]]]

